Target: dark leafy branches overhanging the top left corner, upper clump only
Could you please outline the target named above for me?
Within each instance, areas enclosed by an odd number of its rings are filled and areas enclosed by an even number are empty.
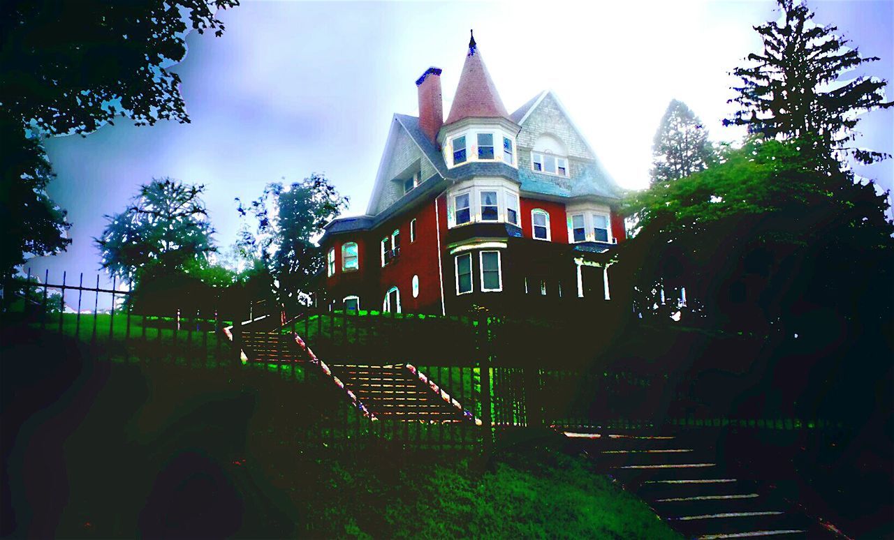
[[[0,103],[21,126],[87,133],[118,115],[137,124],[189,121],[181,78],[187,22],[223,33],[218,9],[238,0],[7,0],[0,7]]]

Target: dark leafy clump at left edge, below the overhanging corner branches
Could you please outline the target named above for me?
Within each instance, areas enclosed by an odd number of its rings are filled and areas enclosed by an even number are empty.
[[[0,279],[10,278],[27,255],[63,251],[72,243],[65,211],[46,195],[53,169],[38,139],[0,121]]]

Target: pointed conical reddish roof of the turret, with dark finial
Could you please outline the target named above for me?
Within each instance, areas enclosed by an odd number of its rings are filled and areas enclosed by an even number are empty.
[[[475,37],[468,43],[468,54],[460,73],[460,84],[456,87],[450,114],[447,115],[444,124],[451,124],[464,118],[509,118],[509,112],[502,104],[485,62],[481,59],[481,53],[478,52]]]

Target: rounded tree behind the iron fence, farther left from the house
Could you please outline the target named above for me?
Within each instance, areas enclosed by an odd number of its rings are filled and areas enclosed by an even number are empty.
[[[132,285],[150,268],[176,272],[205,261],[215,231],[199,197],[204,189],[168,178],[141,186],[124,212],[105,216],[108,225],[94,238],[103,268]]]

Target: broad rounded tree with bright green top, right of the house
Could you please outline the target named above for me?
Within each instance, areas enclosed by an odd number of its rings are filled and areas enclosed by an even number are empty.
[[[711,169],[628,200],[641,230],[620,264],[637,303],[667,314],[679,307],[671,291],[686,287],[688,311],[716,328],[805,335],[818,310],[851,328],[883,324],[894,307],[877,289],[894,281],[888,204],[848,171],[818,171],[814,145],[751,140]]]

